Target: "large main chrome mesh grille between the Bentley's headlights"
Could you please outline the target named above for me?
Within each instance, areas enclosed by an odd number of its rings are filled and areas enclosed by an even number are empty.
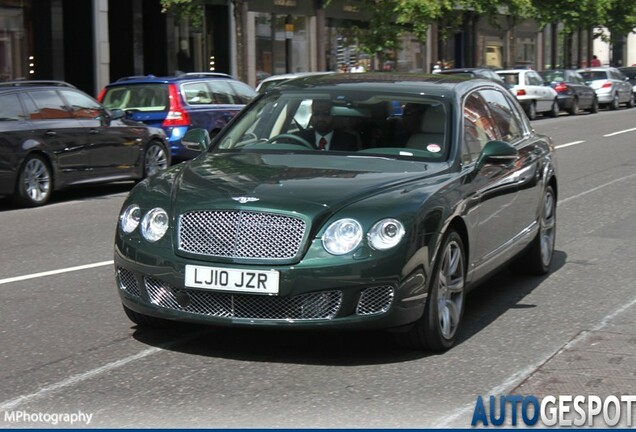
[[[194,211],[179,220],[179,250],[244,259],[291,259],[305,235],[302,219],[247,211]]]

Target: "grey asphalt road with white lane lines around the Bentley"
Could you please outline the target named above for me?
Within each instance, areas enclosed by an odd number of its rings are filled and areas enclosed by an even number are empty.
[[[636,109],[533,124],[559,148],[553,271],[471,293],[441,355],[384,333],[137,330],[111,263],[131,184],[38,209],[0,200],[0,426],[470,427],[477,396],[507,394],[636,301]]]

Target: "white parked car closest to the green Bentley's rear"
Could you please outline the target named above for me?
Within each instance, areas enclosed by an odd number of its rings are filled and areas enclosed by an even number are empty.
[[[517,97],[530,120],[534,120],[538,113],[545,113],[550,117],[559,115],[557,92],[549,85],[545,85],[537,71],[509,69],[496,72],[508,83],[510,91]]]

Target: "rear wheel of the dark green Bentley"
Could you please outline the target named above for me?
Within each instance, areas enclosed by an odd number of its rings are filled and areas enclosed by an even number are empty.
[[[544,275],[550,271],[556,241],[556,195],[552,186],[543,193],[539,232],[527,251],[515,262],[515,270],[531,275]]]

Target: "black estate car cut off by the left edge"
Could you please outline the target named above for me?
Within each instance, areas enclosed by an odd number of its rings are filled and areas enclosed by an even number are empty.
[[[65,82],[0,84],[0,195],[34,207],[64,187],[166,169],[165,133],[123,117]]]

